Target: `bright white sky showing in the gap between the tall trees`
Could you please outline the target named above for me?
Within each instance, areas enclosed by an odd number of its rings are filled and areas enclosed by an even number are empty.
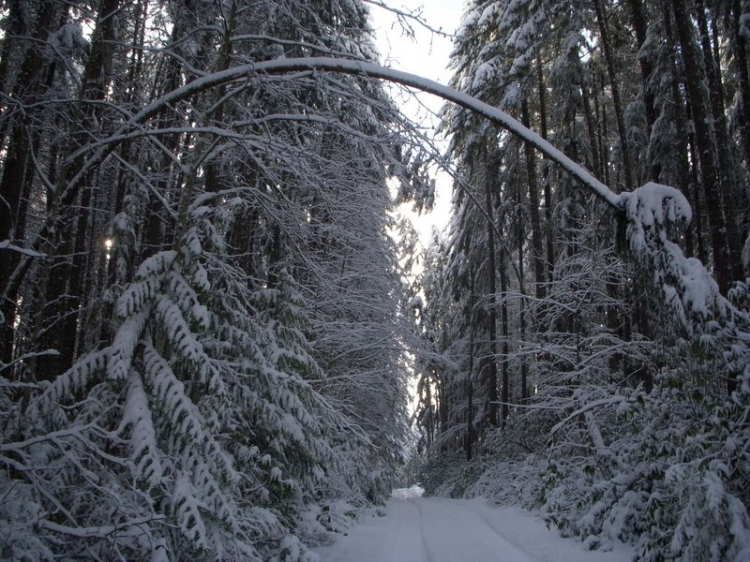
[[[464,0],[386,0],[396,10],[418,12],[421,18],[434,29],[441,29],[453,34],[461,21]],[[409,21],[414,37],[408,37],[392,12],[370,4],[373,26],[377,31],[378,48],[386,66],[411,72],[447,84],[450,71],[447,69],[452,49],[450,37],[431,33],[419,23]],[[408,20],[407,20],[408,21]],[[425,132],[432,136],[437,120],[431,113],[437,113],[443,106],[443,100],[435,96],[420,93],[416,97],[404,97],[395,88],[392,95],[401,104],[402,111],[413,121],[423,124]],[[424,107],[423,107],[424,106]],[[425,109],[426,108],[426,109]],[[445,143],[440,144],[445,148]],[[435,210],[417,216],[404,209],[403,212],[412,219],[419,233],[423,246],[429,243],[433,227],[442,229],[450,216],[451,179],[446,174],[438,173]]]

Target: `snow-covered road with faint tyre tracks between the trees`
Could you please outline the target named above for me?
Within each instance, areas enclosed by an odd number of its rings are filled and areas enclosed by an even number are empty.
[[[479,500],[393,499],[317,551],[322,562],[626,562],[632,553],[586,551],[527,512]]]

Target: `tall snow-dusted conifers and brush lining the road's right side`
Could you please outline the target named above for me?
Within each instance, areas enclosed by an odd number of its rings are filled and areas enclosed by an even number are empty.
[[[459,180],[422,308],[451,327],[424,332],[455,366],[421,373],[428,490],[520,501],[591,547],[631,541],[640,560],[746,556],[746,286],[727,261],[746,209],[721,94],[741,73],[717,57],[732,10],[707,4],[467,5],[453,85],[632,191],[613,213],[540,164],[528,135],[445,111]],[[649,179],[679,191],[633,189]],[[469,425],[493,401],[500,427]]]

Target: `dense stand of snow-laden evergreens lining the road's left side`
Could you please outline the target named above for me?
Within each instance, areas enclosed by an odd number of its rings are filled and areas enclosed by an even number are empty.
[[[373,60],[367,9],[32,4],[0,68],[2,181],[22,158],[27,184],[0,248],[1,556],[307,559],[401,460],[401,117],[354,76],[186,84]]]

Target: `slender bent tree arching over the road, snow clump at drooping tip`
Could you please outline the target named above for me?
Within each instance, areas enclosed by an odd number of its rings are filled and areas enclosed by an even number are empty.
[[[51,205],[58,209],[71,205],[76,200],[78,189],[89,170],[101,163],[121,142],[142,135],[159,134],[158,131],[143,129],[141,125],[165,107],[206,90],[229,84],[246,82],[248,87],[252,87],[253,79],[263,75],[288,74],[289,79],[294,80],[299,78],[300,73],[309,75],[315,72],[370,77],[416,88],[476,112],[522,138],[524,142],[577,178],[583,188],[604,201],[615,211],[618,220],[626,221],[630,251],[636,259],[653,268],[655,283],[689,334],[701,338],[709,330],[707,326],[711,326],[711,335],[721,336],[717,339],[722,342],[720,348],[729,350],[730,342],[737,337],[738,331],[747,333],[746,311],[738,310],[721,294],[713,276],[700,261],[686,258],[680,247],[668,239],[667,230],[670,225],[687,223],[692,218],[690,206],[680,191],[648,183],[632,192],[615,194],[583,166],[504,111],[433,80],[368,62],[327,57],[275,59],[236,66],[195,79],[143,107],[123,123],[115,134],[90,143],[71,155],[67,162],[68,166],[79,164],[82,157],[87,154],[88,158],[78,169],[60,174],[63,184],[57,186],[55,200]],[[44,225],[37,241],[30,250],[25,251],[18,268],[8,280],[4,290],[5,298],[15,300],[13,297],[31,259],[40,255],[40,252],[44,253],[46,248],[43,247],[43,241],[48,238],[47,234],[56,228],[56,214],[52,213],[51,216],[51,222]],[[738,354],[736,346],[728,354],[730,393],[736,388],[738,377],[750,364],[747,356],[750,356],[750,352],[744,350]]]

